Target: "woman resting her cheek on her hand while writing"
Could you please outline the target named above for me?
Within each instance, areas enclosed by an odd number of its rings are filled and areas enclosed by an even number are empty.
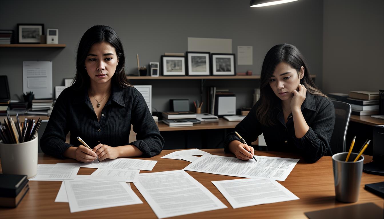
[[[254,142],[263,133],[269,151],[299,153],[308,162],[332,155],[329,148],[335,121],[333,102],[317,89],[299,49],[273,46],[265,55],[260,76],[260,99],[235,127]],[[224,150],[241,160],[252,159],[253,147],[232,132]]]

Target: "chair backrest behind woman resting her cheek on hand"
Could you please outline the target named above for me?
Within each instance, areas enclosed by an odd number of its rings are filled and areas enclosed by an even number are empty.
[[[329,147],[333,154],[346,151],[345,137],[347,135],[349,118],[351,117],[352,107],[351,105],[333,100],[335,107],[335,125],[331,140],[329,141]]]

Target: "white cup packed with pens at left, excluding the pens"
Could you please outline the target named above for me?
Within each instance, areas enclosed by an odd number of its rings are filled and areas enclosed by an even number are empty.
[[[27,175],[28,179],[37,173],[37,134],[29,142],[4,144],[0,141],[0,159],[4,174]]]

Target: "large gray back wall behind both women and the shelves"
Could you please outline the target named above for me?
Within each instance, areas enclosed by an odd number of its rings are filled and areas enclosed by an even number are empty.
[[[83,33],[96,24],[109,25],[120,36],[126,52],[127,73],[140,63],[159,61],[164,52],[187,51],[187,37],[230,38],[237,46],[253,46],[253,65],[237,72],[260,74],[263,58],[279,43],[296,45],[306,57],[316,84],[323,81],[323,1],[301,0],[283,5],[250,8],[249,0],[136,0],[136,1],[2,1],[0,29],[17,23],[44,23],[59,29],[59,43],[66,48],[0,48],[2,73],[8,76],[13,99],[22,94],[22,61],[52,60],[53,86],[75,73],[76,46]],[[46,32],[46,30],[45,30]],[[132,80],[152,84],[152,106],[167,110],[168,100],[200,97],[200,80]],[[230,89],[237,108],[252,105],[253,88],[260,81],[207,80],[204,86]],[[205,93],[204,93],[205,97]],[[192,108],[191,108],[192,109]]]

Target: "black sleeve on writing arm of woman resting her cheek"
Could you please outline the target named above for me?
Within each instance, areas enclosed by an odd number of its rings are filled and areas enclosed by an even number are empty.
[[[257,102],[252,107],[248,115],[235,127],[235,131],[239,133],[242,138],[244,138],[245,142],[247,142],[249,146],[251,146],[251,143],[256,141],[257,137],[262,134],[260,122],[256,119],[256,110],[258,104],[259,102]],[[233,140],[240,141],[240,138],[237,137],[235,132],[228,133],[227,137],[224,140],[225,153],[231,153],[231,151],[229,151],[228,145]]]

